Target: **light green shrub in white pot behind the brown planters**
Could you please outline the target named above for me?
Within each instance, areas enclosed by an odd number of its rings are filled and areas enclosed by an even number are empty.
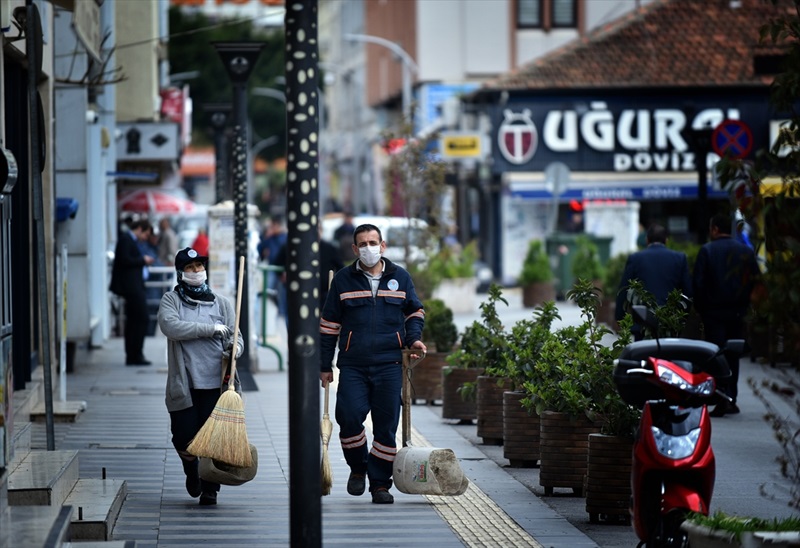
[[[472,241],[461,250],[442,246],[428,261],[427,269],[436,276],[433,297],[443,300],[455,313],[475,310],[478,258],[478,243]]]

